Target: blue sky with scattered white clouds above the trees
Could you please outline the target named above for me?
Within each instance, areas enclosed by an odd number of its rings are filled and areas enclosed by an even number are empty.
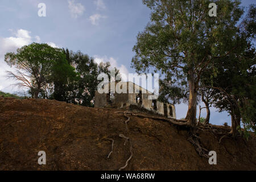
[[[46,4],[46,17],[38,16],[39,3]],[[243,6],[251,3],[242,0]],[[97,62],[110,61],[122,73],[134,73],[132,48],[149,20],[150,9],[141,0],[0,0],[0,90],[18,90],[3,77],[12,70],[3,61],[5,53],[32,42],[80,50]],[[176,113],[177,118],[185,117],[187,105],[176,105]],[[214,108],[210,122],[231,123],[227,113]]]

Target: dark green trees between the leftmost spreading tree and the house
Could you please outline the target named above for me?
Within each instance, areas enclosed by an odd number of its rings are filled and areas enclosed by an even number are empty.
[[[100,73],[106,73],[110,77],[110,63],[100,63],[98,65],[92,57],[85,55],[81,51],[69,52],[66,49],[64,53],[69,67],[63,68],[61,63],[58,64],[54,74],[56,78],[54,81],[54,92],[51,98],[93,107],[95,92],[100,83],[97,77]],[[64,66],[66,67],[65,64]],[[63,70],[66,71],[65,76],[61,76]],[[73,74],[74,70],[75,74]],[[115,69],[116,75],[118,72]]]

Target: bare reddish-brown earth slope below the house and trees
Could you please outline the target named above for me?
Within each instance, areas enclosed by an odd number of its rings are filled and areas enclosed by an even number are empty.
[[[255,170],[256,137],[224,138],[199,131],[201,146],[217,152],[217,165],[199,156],[188,129],[132,116],[117,109],[96,109],[52,100],[0,97],[0,170]],[[219,130],[224,127],[212,126]],[[113,153],[108,158],[112,150]],[[46,151],[47,164],[38,164]]]

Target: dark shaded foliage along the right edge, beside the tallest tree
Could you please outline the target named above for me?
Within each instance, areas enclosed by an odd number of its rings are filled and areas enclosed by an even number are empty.
[[[242,119],[245,130],[241,131],[245,135],[256,131],[256,51],[252,41],[255,40],[255,19],[255,6],[250,6],[237,28],[236,49],[226,57],[215,59],[213,67],[201,79],[203,85],[214,87],[214,106],[219,111],[228,111],[238,123]]]

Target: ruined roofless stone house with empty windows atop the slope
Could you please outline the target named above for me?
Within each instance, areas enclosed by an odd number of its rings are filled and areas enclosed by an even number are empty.
[[[95,93],[94,107],[116,107],[124,108],[130,105],[135,105],[142,107],[144,109],[153,111],[156,114],[164,115],[168,118],[176,119],[175,106],[170,103],[163,103],[158,100],[149,100],[148,96],[153,95],[153,93],[142,88],[141,86],[134,84],[133,82],[109,82],[105,84],[105,91],[108,89],[108,93]],[[126,92],[117,93],[113,92],[113,88],[121,88],[126,90]],[[123,87],[123,88],[122,88]],[[125,88],[126,87],[126,88]],[[130,92],[129,92],[130,91]],[[132,91],[132,92],[131,92]]]

